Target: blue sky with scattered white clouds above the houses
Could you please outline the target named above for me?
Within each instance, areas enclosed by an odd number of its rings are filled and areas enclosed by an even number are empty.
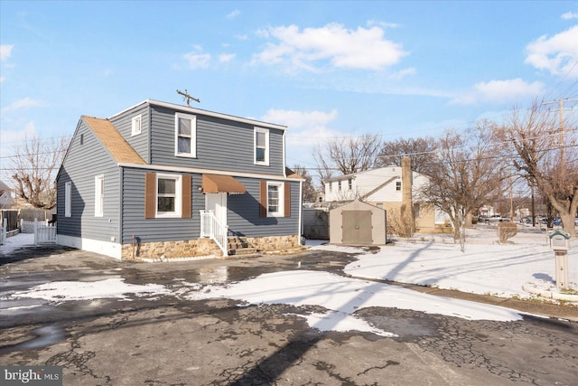
[[[144,99],[328,137],[436,137],[578,98],[578,2],[0,2],[0,161]],[[194,103],[194,102],[193,102]]]

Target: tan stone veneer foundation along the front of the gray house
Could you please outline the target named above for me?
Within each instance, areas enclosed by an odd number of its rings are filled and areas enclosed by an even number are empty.
[[[242,238],[247,243],[259,251],[283,251],[294,249],[300,246],[297,235],[288,236],[267,236],[267,237],[247,237]],[[142,260],[142,259],[182,259],[203,256],[222,257],[223,253],[215,241],[201,238],[198,240],[180,241],[157,241],[140,242],[135,244],[135,257],[133,258],[133,245],[123,244],[121,259]]]

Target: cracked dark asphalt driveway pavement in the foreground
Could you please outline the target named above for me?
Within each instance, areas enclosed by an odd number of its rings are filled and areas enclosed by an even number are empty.
[[[384,337],[313,329],[299,315],[321,312],[319,306],[186,298],[209,284],[294,269],[298,261],[303,269],[342,274],[352,259],[344,253],[305,252],[138,264],[76,249],[16,250],[2,259],[0,297],[49,281],[103,278],[162,284],[180,296],[60,304],[21,299],[22,308],[3,312],[0,319],[0,364],[59,365],[65,385],[575,384],[576,307],[508,303],[561,317],[526,315],[507,323],[360,309],[356,315],[397,334]],[[497,302],[504,306],[503,299]]]

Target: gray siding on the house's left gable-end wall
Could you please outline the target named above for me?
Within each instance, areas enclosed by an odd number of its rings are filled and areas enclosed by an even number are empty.
[[[83,135],[83,145],[80,137]],[[119,174],[112,156],[81,121],[57,180],[58,233],[92,240],[118,240]],[[104,216],[95,217],[95,176],[104,174]],[[65,217],[65,184],[71,181],[71,217]]]

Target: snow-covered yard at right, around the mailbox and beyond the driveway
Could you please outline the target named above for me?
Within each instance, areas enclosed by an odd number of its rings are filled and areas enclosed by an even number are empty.
[[[534,297],[522,288],[524,285],[556,291],[555,253],[545,234],[518,233],[510,240],[511,243],[500,245],[494,232],[477,231],[465,245],[465,252],[447,239],[396,242],[395,246],[381,247],[376,254],[359,254],[359,260],[350,263],[345,272],[355,278],[387,279],[498,297]],[[568,251],[568,266],[569,287],[578,291],[577,245]]]

